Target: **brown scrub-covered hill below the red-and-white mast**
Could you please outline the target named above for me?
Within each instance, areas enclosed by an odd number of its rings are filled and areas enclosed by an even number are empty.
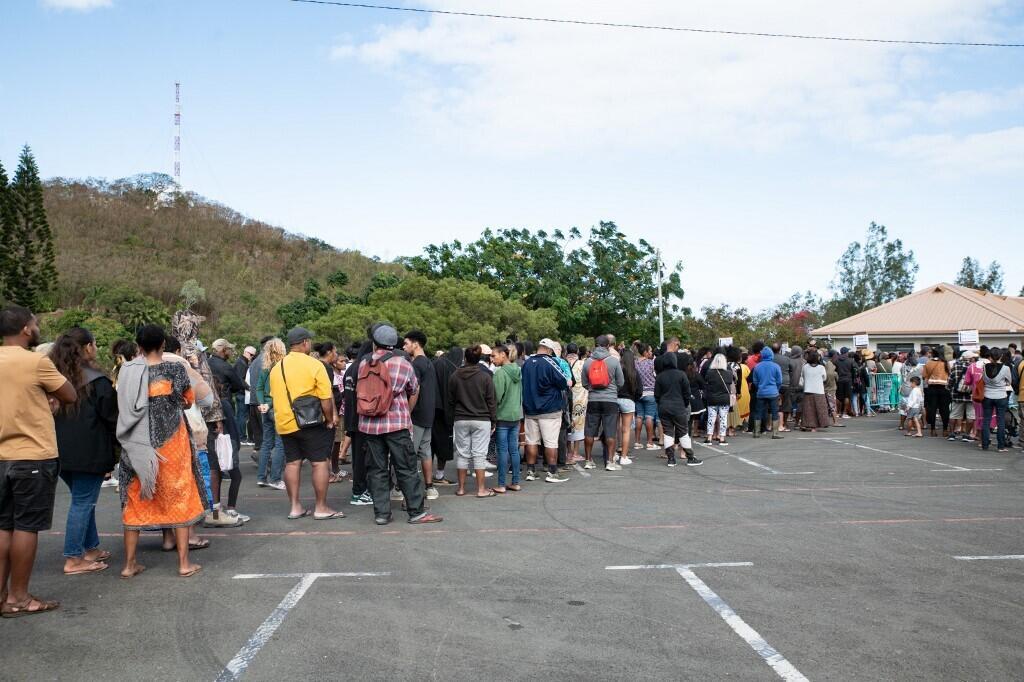
[[[345,292],[356,295],[376,273],[402,270],[196,195],[169,194],[169,180],[146,175],[112,183],[46,183],[58,308],[92,308],[104,295],[130,289],[173,310],[182,284],[196,280],[206,292],[196,308],[208,316],[207,332],[258,338],[281,328],[275,310],[302,298],[309,279],[323,281],[342,270],[348,275]]]

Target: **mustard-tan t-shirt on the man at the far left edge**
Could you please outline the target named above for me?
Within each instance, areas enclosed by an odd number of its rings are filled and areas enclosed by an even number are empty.
[[[47,393],[68,381],[46,355],[0,346],[0,460],[52,460],[57,434]]]

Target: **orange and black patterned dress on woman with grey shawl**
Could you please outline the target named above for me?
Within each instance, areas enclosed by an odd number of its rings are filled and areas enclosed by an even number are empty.
[[[126,529],[185,527],[203,519],[206,484],[184,416],[194,400],[184,367],[177,363],[150,366],[150,439],[160,458],[160,470],[153,499],[142,500],[135,472],[122,459],[121,505]]]

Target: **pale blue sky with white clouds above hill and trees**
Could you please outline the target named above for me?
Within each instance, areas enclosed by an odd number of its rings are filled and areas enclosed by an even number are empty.
[[[1024,42],[1020,3],[676,0],[415,6],[785,33]],[[895,6],[894,6],[895,5]],[[413,6],[413,5],[410,5]],[[918,285],[970,255],[1024,286],[1024,49],[727,38],[284,0],[0,5],[0,160],[170,172],[385,259],[487,226],[614,220],[682,260],[684,303],[827,293],[874,220]]]

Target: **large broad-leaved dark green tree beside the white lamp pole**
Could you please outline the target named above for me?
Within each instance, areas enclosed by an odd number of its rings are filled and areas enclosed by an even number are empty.
[[[406,259],[413,271],[432,279],[455,278],[486,285],[528,308],[551,308],[566,337],[615,331],[648,336],[657,329],[657,257],[641,240],[633,244],[613,222],[595,226],[583,247],[568,232],[486,229],[479,240],[428,246]],[[667,273],[670,312],[683,290],[676,264]]]

